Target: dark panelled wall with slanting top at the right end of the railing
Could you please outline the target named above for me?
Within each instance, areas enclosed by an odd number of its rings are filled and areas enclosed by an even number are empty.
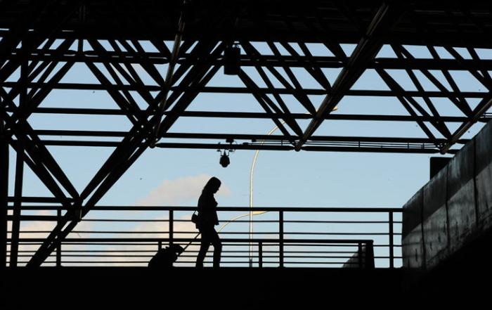
[[[403,266],[429,269],[492,229],[492,122],[403,206]]]

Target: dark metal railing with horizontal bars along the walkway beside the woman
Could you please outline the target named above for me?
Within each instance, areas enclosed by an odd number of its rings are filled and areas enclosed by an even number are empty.
[[[12,210],[13,207],[9,207]],[[163,246],[191,242],[174,266],[195,266],[200,247],[190,221],[195,207],[99,206],[70,233],[44,266],[146,266]],[[373,259],[373,266],[401,266],[401,213],[396,208],[219,207],[223,244],[221,266],[342,267]],[[11,213],[11,211],[9,211]],[[22,206],[18,266],[29,261],[66,209],[50,205]],[[13,217],[8,216],[12,221]],[[227,224],[228,223],[228,224]],[[219,226],[220,227],[220,226]],[[217,229],[219,228],[217,227]],[[8,231],[7,261],[11,231]],[[361,248],[373,257],[353,259]],[[212,261],[212,247],[206,264]],[[351,259],[352,258],[352,259]],[[364,265],[365,266],[365,265]]]

